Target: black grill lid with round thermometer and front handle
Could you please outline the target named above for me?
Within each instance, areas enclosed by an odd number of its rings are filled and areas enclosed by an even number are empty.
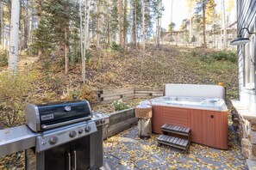
[[[87,100],[72,100],[64,102],[49,102],[42,104],[28,104],[26,106],[26,121],[33,131],[43,131],[43,127],[58,127],[71,124],[74,120],[91,118],[91,106]],[[59,124],[59,125],[58,125]]]

